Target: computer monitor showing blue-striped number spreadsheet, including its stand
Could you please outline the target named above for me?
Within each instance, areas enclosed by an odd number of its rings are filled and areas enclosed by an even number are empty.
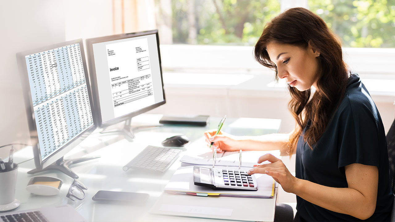
[[[36,169],[60,170],[97,157],[63,160],[96,126],[82,39],[17,54]],[[54,163],[55,162],[55,163]]]

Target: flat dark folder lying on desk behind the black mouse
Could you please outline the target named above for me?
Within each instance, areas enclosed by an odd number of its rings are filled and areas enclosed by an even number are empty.
[[[195,126],[206,126],[208,122],[208,115],[164,115],[162,119],[159,120],[159,123],[161,124],[186,124]]]

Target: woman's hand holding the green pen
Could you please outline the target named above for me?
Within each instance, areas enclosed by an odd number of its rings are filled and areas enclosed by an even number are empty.
[[[216,132],[216,129],[204,132],[207,147],[210,147],[211,142],[214,142],[210,149],[217,149],[217,152],[238,151],[240,149],[237,147],[237,139],[235,139],[235,136],[222,131],[215,135]]]

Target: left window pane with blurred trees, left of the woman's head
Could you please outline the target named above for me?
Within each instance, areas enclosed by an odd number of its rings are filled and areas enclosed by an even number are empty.
[[[171,8],[173,43],[254,45],[280,13],[278,0],[172,1]]]

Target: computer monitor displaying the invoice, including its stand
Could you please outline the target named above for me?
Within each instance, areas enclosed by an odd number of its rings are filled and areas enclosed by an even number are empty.
[[[134,138],[131,118],[166,103],[158,30],[87,40],[94,122]]]

